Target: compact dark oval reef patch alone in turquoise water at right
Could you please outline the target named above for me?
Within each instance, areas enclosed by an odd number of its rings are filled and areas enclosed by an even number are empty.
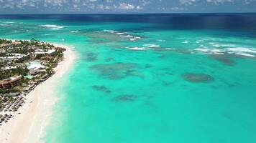
[[[214,78],[208,74],[185,73],[185,74],[182,74],[182,77],[184,80],[188,82],[193,82],[193,83],[199,83],[199,82],[207,83],[207,82],[214,81]]]

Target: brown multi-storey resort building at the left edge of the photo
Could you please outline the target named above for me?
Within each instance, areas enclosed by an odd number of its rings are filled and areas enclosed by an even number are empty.
[[[8,79],[0,80],[0,89],[10,89],[12,87],[16,87],[21,80],[22,76],[13,76]]]

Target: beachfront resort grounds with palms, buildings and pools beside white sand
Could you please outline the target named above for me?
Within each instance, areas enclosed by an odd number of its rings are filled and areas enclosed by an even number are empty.
[[[20,114],[26,95],[55,73],[63,51],[35,39],[0,39],[0,127]]]

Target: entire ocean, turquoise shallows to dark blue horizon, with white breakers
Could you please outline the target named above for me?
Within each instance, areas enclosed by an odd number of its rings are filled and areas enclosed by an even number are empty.
[[[256,14],[2,15],[75,46],[50,143],[255,143]]]

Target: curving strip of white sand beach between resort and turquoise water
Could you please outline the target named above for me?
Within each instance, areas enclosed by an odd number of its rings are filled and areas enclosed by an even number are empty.
[[[0,142],[22,143],[22,142],[42,142],[45,136],[45,127],[50,123],[53,107],[58,102],[58,92],[60,79],[68,73],[76,59],[76,53],[72,46],[50,43],[54,46],[61,46],[64,51],[63,61],[55,67],[55,74],[45,82],[40,83],[25,97],[25,104],[20,107],[15,116],[0,127]],[[17,114],[17,113],[21,114]]]

